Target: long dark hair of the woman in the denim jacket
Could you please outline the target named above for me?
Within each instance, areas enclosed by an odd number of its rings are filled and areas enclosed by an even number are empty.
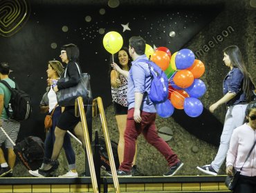
[[[246,94],[246,101],[252,101],[252,91],[255,89],[255,84],[253,83],[253,79],[250,77],[250,73],[246,70],[246,65],[244,65],[239,48],[237,45],[230,45],[225,48],[223,52],[229,56],[231,65],[235,68],[239,68],[239,70],[244,74],[243,90]]]

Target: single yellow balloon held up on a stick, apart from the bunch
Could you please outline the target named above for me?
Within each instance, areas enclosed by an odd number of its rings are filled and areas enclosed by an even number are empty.
[[[115,54],[122,48],[122,36],[118,32],[108,32],[104,35],[104,48],[111,54]]]

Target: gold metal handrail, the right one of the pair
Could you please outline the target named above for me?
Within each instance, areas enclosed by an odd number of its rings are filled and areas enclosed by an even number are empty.
[[[97,110],[97,108],[95,108],[95,105],[98,103],[98,108],[99,108],[99,112],[100,112],[100,120],[102,123],[102,128],[103,128],[103,133],[104,133],[104,139],[106,141],[106,145],[107,145],[107,154],[109,155],[109,163],[110,163],[110,167],[111,167],[111,172],[112,172],[112,176],[113,176],[113,185],[115,187],[115,192],[120,193],[120,186],[119,186],[119,182],[118,182],[118,176],[116,174],[116,165],[115,165],[115,161],[113,159],[113,152],[112,152],[112,148],[111,148],[111,142],[109,139],[109,132],[107,129],[107,121],[106,121],[106,116],[104,113],[104,108],[103,108],[103,104],[102,104],[102,99],[101,97],[97,97],[96,99],[93,99],[93,116],[95,116],[96,112],[95,110]]]

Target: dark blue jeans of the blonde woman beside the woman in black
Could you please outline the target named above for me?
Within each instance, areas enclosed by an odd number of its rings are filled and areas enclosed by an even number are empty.
[[[44,141],[44,163],[47,163],[47,160],[51,159],[51,156],[53,154],[53,145],[55,142],[55,126],[57,125],[57,121],[59,120],[61,114],[62,109],[60,107],[57,107],[55,109],[55,112],[53,113],[53,126],[47,133],[46,140]],[[66,133],[64,136],[63,148],[65,150],[66,159],[68,161],[68,169],[75,169],[75,152],[71,146],[71,139],[68,133]]]

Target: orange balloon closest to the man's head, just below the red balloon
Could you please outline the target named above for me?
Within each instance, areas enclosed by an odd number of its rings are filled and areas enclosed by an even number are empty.
[[[151,58],[163,71],[165,71],[170,63],[170,58],[167,53],[163,51],[156,51],[152,54]]]

